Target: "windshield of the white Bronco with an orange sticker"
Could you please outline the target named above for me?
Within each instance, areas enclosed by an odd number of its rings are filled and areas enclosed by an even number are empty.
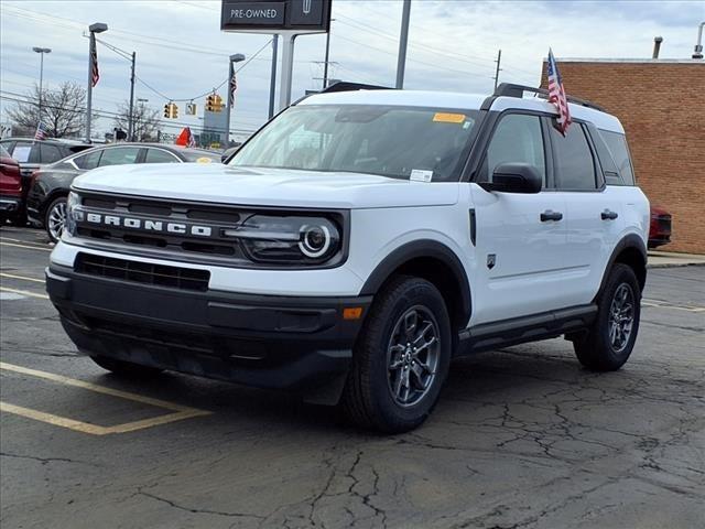
[[[294,106],[247,142],[229,165],[457,181],[477,115],[380,105]]]

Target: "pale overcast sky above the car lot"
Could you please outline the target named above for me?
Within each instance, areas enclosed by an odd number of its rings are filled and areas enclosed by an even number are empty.
[[[330,77],[393,86],[402,2],[333,0]],[[231,127],[253,130],[267,118],[270,35],[223,33],[220,0],[43,0],[0,1],[0,121],[8,97],[39,80],[40,57],[32,46],[51,47],[44,82],[86,85],[88,24],[105,22],[101,39],[137,52],[135,98],[161,109],[192,98],[227,77],[228,56],[261,53],[238,75]],[[557,57],[648,58],[655,35],[664,39],[662,58],[690,58],[705,1],[473,1],[412,0],[404,88],[489,93],[495,58],[502,50],[500,82],[536,85],[549,46]],[[325,35],[296,41],[293,98],[321,87]],[[281,54],[280,54],[281,56]],[[100,83],[94,109],[116,111],[129,98],[129,63],[99,45]],[[318,63],[317,63],[318,62]],[[571,79],[564,79],[570,91]],[[225,88],[220,90],[225,97]],[[199,114],[204,98],[196,99]],[[197,126],[183,117],[180,122]],[[111,130],[109,119],[95,123]],[[173,130],[171,130],[173,132]]]

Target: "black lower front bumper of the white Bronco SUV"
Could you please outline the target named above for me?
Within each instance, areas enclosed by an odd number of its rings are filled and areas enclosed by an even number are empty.
[[[55,263],[46,270],[46,290],[85,354],[313,395],[340,389],[371,303],[371,296],[185,291]],[[354,306],[362,316],[345,320],[343,310]]]

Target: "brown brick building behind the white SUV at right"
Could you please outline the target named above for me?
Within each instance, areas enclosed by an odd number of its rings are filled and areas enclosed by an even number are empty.
[[[622,122],[639,186],[673,215],[672,242],[660,249],[705,253],[705,61],[557,63],[568,95]]]

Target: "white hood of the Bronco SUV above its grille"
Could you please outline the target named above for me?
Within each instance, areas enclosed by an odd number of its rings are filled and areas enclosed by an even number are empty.
[[[457,183],[198,163],[99,168],[74,180],[73,186],[155,198],[341,209],[441,206],[458,199]]]

